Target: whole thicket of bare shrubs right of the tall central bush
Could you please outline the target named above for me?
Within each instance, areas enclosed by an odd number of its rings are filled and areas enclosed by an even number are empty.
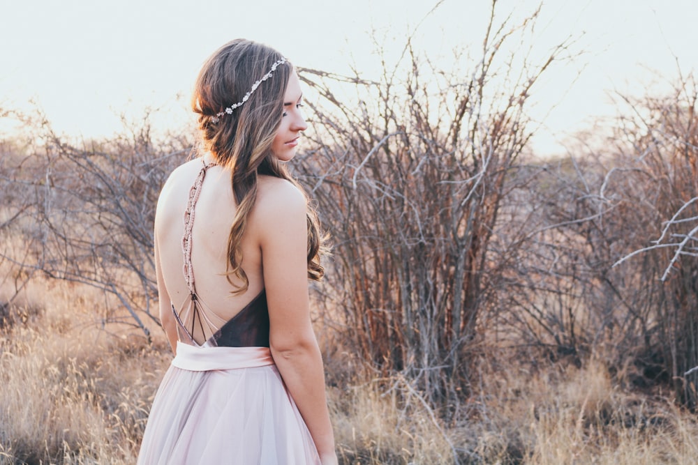
[[[572,157],[517,172],[531,182],[504,211],[526,212],[526,234],[510,247],[500,337],[554,360],[595,353],[616,381],[671,385],[695,406],[696,100],[691,79],[667,96],[627,98],[613,137],[581,135]]]

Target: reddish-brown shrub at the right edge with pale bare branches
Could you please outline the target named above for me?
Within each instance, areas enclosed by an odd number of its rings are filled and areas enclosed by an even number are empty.
[[[623,119],[618,152],[632,172],[612,194],[634,211],[619,219],[649,224],[625,225],[643,231],[644,241],[617,268],[648,289],[653,303],[641,320],[639,362],[695,408],[698,373],[689,371],[698,367],[698,86],[688,77],[669,96],[626,101],[634,115]]]

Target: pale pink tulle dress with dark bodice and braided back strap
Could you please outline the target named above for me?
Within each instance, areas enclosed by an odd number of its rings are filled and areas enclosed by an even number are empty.
[[[172,309],[177,356],[155,396],[138,464],[320,464],[269,351],[264,291],[203,344],[182,323],[191,317],[192,324],[211,324],[191,267],[194,206],[209,166],[191,188],[184,217],[184,277],[191,298],[179,314]]]

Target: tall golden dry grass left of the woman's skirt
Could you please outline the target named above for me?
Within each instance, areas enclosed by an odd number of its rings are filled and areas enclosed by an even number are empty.
[[[135,462],[166,342],[98,326],[104,305],[94,288],[35,279],[4,307],[0,463]]]

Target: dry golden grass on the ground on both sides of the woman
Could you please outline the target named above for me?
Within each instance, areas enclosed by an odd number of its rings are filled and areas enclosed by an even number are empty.
[[[154,331],[153,346],[137,331],[107,326],[107,333],[95,324],[105,300],[94,289],[34,280],[25,291],[4,310],[0,332],[0,465],[133,464],[170,360],[161,333]],[[485,361],[475,395],[450,425],[409,379],[330,373],[341,462],[693,464],[698,457],[695,416],[659,392],[621,389],[601,360],[535,369],[504,354]]]

